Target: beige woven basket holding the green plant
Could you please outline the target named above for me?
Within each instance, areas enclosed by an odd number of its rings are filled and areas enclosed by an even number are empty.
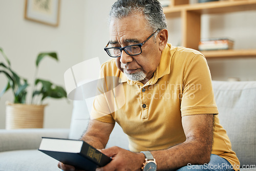
[[[46,105],[6,103],[6,129],[42,128]]]

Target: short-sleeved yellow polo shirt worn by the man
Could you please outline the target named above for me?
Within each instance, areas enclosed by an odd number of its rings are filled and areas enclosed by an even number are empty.
[[[167,44],[154,76],[146,84],[128,80],[114,59],[103,63],[100,73],[105,81],[109,77],[118,81],[108,81],[99,88],[101,95],[95,98],[91,117],[117,122],[128,135],[133,152],[166,149],[184,142],[184,116],[218,114],[206,59],[196,50]],[[102,93],[103,89],[108,93]],[[240,165],[218,115],[212,154],[233,166]]]

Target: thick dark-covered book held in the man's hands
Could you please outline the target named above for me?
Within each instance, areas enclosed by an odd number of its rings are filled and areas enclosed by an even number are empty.
[[[42,137],[39,151],[76,169],[95,170],[112,159],[82,140]]]

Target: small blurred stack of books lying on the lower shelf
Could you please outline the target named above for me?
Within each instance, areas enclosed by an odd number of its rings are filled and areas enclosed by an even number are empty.
[[[200,51],[233,49],[234,41],[228,38],[201,39],[198,49]]]

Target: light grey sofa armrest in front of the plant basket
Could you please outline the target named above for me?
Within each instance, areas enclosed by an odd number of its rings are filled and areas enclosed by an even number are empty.
[[[41,137],[68,138],[69,129],[0,130],[0,152],[39,148]]]

